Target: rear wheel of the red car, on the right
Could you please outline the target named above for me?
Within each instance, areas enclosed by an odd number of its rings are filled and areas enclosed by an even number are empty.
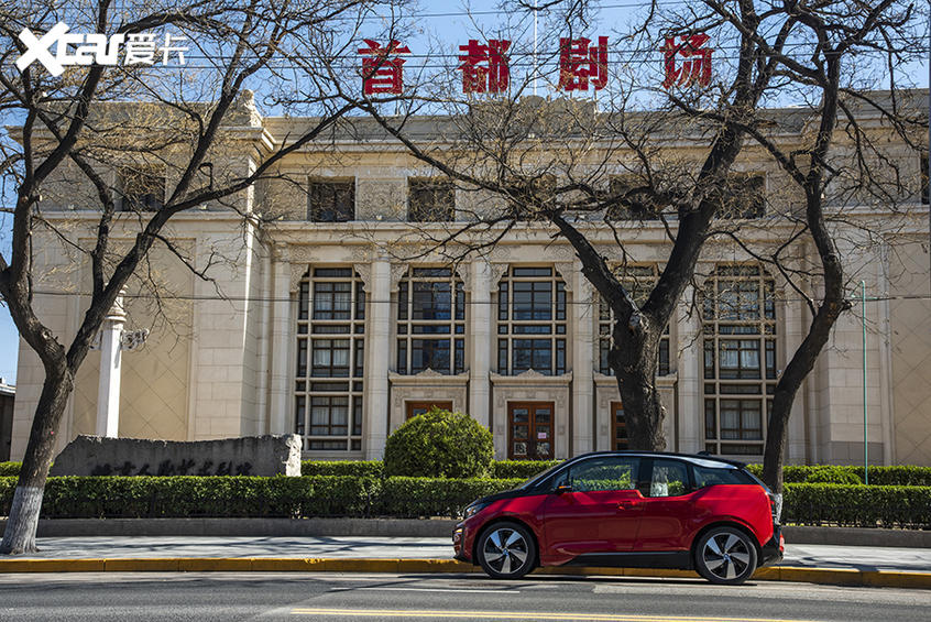
[[[751,536],[735,527],[709,530],[699,539],[694,555],[695,570],[712,583],[738,586],[756,570],[756,546]]]

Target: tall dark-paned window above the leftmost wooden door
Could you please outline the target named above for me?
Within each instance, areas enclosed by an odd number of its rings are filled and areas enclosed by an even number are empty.
[[[450,268],[412,268],[397,288],[397,373],[466,371],[466,291]]]

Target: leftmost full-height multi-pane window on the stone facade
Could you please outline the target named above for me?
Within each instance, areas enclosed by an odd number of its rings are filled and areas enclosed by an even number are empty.
[[[365,292],[351,268],[300,282],[294,432],[308,451],[362,449]]]

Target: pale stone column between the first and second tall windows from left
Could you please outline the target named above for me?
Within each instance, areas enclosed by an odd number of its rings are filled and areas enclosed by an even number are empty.
[[[391,262],[372,261],[365,281],[368,326],[365,327],[365,423],[363,450],[366,460],[377,460],[385,450],[388,416],[388,352],[391,352]]]

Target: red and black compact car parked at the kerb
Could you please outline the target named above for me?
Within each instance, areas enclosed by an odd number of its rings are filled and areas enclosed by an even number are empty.
[[[776,498],[740,462],[682,454],[585,454],[472,502],[456,558],[491,577],[537,566],[697,570],[746,581],[782,559]]]

